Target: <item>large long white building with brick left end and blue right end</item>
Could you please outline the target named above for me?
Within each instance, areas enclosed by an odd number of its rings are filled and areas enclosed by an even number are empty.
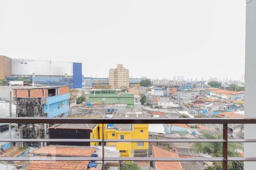
[[[0,56],[0,79],[27,80],[47,86],[82,88],[82,63]]]

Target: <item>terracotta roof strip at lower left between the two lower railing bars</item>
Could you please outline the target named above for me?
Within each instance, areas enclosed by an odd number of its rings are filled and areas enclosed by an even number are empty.
[[[91,147],[71,147],[71,146],[46,146],[31,151],[36,155],[56,155],[56,156],[90,156],[96,148]]]

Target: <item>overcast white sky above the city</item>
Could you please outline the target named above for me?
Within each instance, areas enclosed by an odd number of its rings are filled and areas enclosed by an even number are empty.
[[[0,0],[0,55],[82,62],[86,76],[123,63],[134,77],[241,79],[245,0]]]

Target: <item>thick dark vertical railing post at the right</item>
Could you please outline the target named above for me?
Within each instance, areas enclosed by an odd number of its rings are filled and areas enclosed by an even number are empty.
[[[228,124],[223,124],[223,135],[222,139],[224,140],[222,142],[222,169],[227,170],[228,169]]]

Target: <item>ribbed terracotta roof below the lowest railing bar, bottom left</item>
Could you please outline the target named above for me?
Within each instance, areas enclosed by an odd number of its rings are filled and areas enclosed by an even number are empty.
[[[27,165],[27,170],[57,170],[57,169],[74,169],[85,170],[88,167],[88,161],[34,161]]]

